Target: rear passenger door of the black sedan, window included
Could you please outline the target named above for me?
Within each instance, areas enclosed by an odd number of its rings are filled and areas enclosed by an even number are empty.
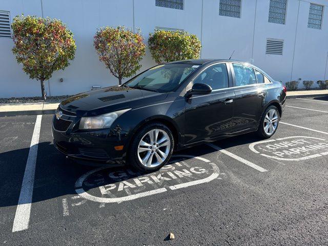
[[[233,125],[235,132],[254,128],[260,120],[267,88],[263,74],[250,66],[231,63],[235,92]],[[262,77],[261,77],[262,76]]]

